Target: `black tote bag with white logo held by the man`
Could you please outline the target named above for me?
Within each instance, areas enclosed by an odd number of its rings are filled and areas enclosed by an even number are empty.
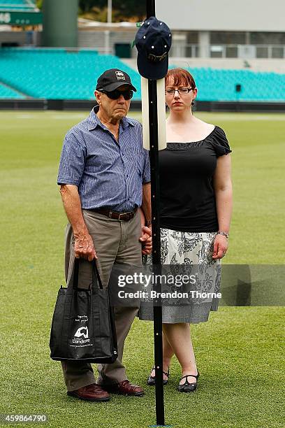
[[[60,287],[50,331],[50,357],[57,361],[113,363],[117,359],[115,317],[108,288],[103,287],[92,261],[92,286],[78,287],[80,262],[75,259],[73,281]]]

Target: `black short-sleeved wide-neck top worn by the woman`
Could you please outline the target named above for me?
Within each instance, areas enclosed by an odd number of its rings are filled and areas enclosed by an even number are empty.
[[[177,231],[218,231],[213,187],[217,157],[231,149],[215,126],[201,141],[167,143],[159,152],[161,227]]]

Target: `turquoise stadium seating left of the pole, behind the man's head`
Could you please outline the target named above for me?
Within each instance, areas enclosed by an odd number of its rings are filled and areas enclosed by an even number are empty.
[[[96,51],[63,49],[17,49],[0,51],[0,80],[29,97],[45,99],[94,99],[98,76],[105,69],[124,69],[138,88],[140,76],[113,55]]]

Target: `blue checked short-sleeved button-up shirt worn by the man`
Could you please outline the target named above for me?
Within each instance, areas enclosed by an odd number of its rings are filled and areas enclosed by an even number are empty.
[[[95,109],[98,111],[98,107]],[[120,120],[117,143],[95,111],[66,134],[57,184],[78,186],[83,209],[132,211],[142,204],[142,183],[150,181],[142,125],[124,117]]]

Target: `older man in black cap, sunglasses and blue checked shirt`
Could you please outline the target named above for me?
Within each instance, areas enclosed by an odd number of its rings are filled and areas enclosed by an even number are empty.
[[[127,73],[105,71],[96,85],[98,106],[64,139],[57,183],[69,222],[66,281],[71,281],[75,257],[81,257],[80,287],[89,287],[92,259],[107,286],[113,264],[140,265],[142,253],[151,250],[148,152],[142,147],[140,123],[126,117],[133,91]],[[108,401],[108,392],[144,394],[129,382],[122,364],[124,341],[137,312],[137,306],[115,308],[118,357],[113,364],[98,365],[97,383],[91,364],[61,363],[68,395]]]

